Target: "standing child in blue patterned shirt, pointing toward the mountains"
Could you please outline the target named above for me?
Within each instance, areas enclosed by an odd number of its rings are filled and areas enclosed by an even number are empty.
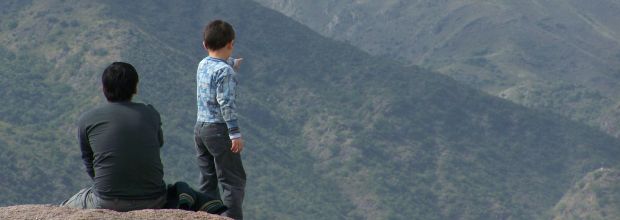
[[[209,53],[198,64],[198,118],[194,129],[200,191],[211,198],[221,198],[229,209],[224,216],[243,219],[241,205],[245,193],[245,170],[241,162],[243,140],[237,125],[235,99],[236,73],[241,59],[231,59],[235,31],[224,21],[215,20],[204,30],[203,46]]]

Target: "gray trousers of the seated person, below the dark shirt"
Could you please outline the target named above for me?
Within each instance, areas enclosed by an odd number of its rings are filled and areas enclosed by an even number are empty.
[[[106,200],[95,195],[93,188],[80,190],[61,206],[78,209],[110,209],[118,212],[127,212],[140,209],[160,209],[166,204],[166,194],[156,199],[146,200]]]

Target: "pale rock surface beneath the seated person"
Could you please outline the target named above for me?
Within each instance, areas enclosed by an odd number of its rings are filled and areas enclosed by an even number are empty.
[[[131,212],[116,212],[105,209],[73,209],[52,205],[18,205],[0,207],[0,219],[210,219],[230,218],[206,212],[190,212],[173,209],[145,209]]]

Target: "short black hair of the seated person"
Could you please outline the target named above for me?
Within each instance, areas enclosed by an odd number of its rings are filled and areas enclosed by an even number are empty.
[[[114,62],[103,71],[101,83],[109,102],[131,101],[138,88],[138,72],[129,63]]]

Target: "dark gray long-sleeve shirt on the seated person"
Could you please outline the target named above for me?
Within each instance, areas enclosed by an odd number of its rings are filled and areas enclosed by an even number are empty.
[[[84,113],[78,141],[95,194],[103,199],[152,199],[165,193],[161,118],[151,105],[113,102]]]

